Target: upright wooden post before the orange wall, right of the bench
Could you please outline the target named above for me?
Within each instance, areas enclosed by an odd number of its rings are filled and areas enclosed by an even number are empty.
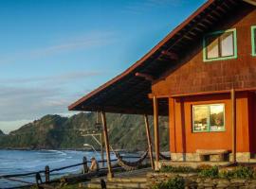
[[[232,102],[232,162],[236,163],[236,97],[235,90],[231,90]]]

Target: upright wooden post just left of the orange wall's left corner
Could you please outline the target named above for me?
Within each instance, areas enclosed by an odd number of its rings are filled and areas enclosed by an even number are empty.
[[[159,129],[158,129],[158,101],[153,97],[154,107],[154,136],[155,136],[155,170],[159,169]]]

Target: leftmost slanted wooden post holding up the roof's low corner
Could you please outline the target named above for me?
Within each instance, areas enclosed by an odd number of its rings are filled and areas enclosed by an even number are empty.
[[[107,125],[106,125],[106,114],[105,112],[101,112],[101,121],[104,133],[104,144],[106,149],[106,160],[107,160],[107,168],[108,168],[108,178],[111,179],[114,177],[111,169],[111,160],[110,160],[110,151],[109,151],[109,140],[108,140],[108,133],[107,133]]]

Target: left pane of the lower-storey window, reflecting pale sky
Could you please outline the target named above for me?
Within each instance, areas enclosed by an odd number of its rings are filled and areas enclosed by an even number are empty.
[[[208,130],[208,106],[193,107],[193,130],[207,131]]]

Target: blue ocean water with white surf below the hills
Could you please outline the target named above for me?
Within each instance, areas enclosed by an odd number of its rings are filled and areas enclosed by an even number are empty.
[[[71,164],[82,163],[82,157],[90,160],[94,156],[101,160],[101,154],[93,151],[73,151],[73,150],[0,150],[0,177],[7,174],[27,173],[45,170],[46,165],[50,169],[59,168]],[[116,159],[111,154],[111,159]],[[101,164],[101,163],[100,163]],[[82,165],[54,172],[51,178],[61,177],[62,175],[80,173]],[[15,178],[35,182],[34,176]],[[42,180],[45,180],[42,175]],[[25,183],[0,179],[0,188],[10,188],[21,186]]]

